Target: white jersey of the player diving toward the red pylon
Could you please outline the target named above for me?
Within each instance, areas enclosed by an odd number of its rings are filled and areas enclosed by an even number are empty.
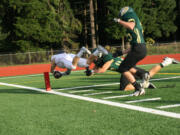
[[[75,69],[72,65],[73,58],[75,57],[75,54],[72,53],[61,53],[61,54],[56,54],[51,57],[51,61],[55,60],[55,64],[59,68],[67,68],[67,69]],[[88,65],[86,64],[87,60],[84,58],[80,58],[78,62],[79,67],[87,67]]]

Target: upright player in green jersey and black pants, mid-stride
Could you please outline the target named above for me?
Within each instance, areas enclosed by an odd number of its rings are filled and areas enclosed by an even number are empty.
[[[135,87],[134,96],[143,95],[145,94],[144,88],[133,76],[133,74],[138,72],[138,70],[134,68],[135,65],[147,54],[141,22],[131,7],[122,8],[119,13],[119,18],[114,18],[114,21],[127,28],[127,37],[131,44],[131,50],[120,64],[118,71]],[[145,77],[148,78],[148,74]]]

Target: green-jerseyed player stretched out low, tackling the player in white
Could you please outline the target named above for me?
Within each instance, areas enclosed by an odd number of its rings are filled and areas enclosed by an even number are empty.
[[[113,57],[112,53],[102,55],[102,57],[99,58],[96,56],[94,59],[95,67],[92,73],[104,73],[107,70],[119,72],[118,71],[119,65],[122,63],[123,60],[124,59],[122,57],[116,57],[116,58]],[[179,61],[173,58],[166,57],[160,64],[153,66],[149,72],[139,67],[134,67],[137,70],[137,72],[133,76],[136,79],[145,80],[140,84],[143,88],[156,88],[152,83],[149,82],[150,77],[153,77],[163,67],[169,66],[170,64],[178,64],[178,63]],[[146,75],[148,76],[148,79],[147,78],[145,79]],[[129,80],[123,74],[121,75],[120,78],[120,90],[125,90],[125,91],[135,90],[135,87],[129,82]]]

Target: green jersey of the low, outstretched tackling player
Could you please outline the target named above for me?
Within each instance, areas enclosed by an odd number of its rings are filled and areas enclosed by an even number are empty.
[[[108,70],[113,70],[113,71],[118,70],[119,65],[123,61],[123,58],[121,58],[121,57],[114,58],[111,53],[109,53],[108,55],[103,56],[102,59],[103,59],[103,63],[106,63],[106,62],[108,62],[110,60],[113,60],[113,63],[111,64],[111,66],[108,69]]]

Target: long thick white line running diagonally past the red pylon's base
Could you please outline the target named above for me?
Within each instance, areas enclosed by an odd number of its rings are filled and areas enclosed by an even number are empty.
[[[136,111],[140,111],[140,112],[147,112],[147,113],[151,113],[151,114],[156,114],[156,115],[161,115],[161,116],[180,119],[180,114],[179,113],[166,112],[166,111],[162,111],[162,110],[156,110],[156,109],[140,107],[140,106],[135,106],[135,105],[117,103],[117,102],[112,102],[112,101],[107,101],[107,100],[102,100],[102,99],[83,97],[83,96],[78,96],[78,95],[73,95],[73,94],[57,92],[57,91],[53,91],[53,90],[45,91],[44,89],[26,87],[26,86],[15,85],[15,84],[8,84],[8,83],[0,82],[0,85],[23,88],[23,89],[28,89],[28,90],[34,90],[34,91],[43,92],[43,93],[49,93],[49,94],[55,94],[55,95],[75,98],[75,99],[78,99],[78,100],[90,101],[90,102],[94,102],[94,103],[106,104],[106,105],[110,105],[110,106],[116,106],[116,107],[120,107],[120,108],[126,108],[126,109],[130,109],[130,110],[136,110]]]

